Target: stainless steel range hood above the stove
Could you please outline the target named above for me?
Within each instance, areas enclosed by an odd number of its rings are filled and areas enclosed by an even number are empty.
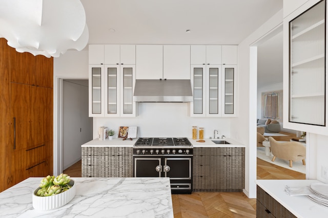
[[[135,102],[192,102],[190,80],[136,80]]]

